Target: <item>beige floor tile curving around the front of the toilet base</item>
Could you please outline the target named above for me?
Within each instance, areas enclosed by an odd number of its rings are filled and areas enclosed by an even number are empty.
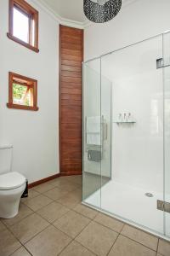
[[[31,211],[29,207],[20,203],[19,213],[14,218],[3,219],[3,223],[8,226],[14,225],[23,218],[26,218],[31,213],[33,213],[33,211]]]

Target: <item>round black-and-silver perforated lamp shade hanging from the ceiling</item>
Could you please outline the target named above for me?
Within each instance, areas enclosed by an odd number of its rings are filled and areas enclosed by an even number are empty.
[[[122,0],[97,1],[83,0],[84,14],[95,23],[105,23],[112,20],[122,7]],[[102,4],[103,2],[103,4]]]

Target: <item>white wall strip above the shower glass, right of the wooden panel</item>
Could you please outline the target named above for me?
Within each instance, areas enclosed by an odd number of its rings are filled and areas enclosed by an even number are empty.
[[[113,20],[85,29],[85,60],[170,30],[169,0],[128,2]]]

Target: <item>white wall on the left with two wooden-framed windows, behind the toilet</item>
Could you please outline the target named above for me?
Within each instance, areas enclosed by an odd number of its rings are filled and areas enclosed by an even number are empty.
[[[37,54],[7,38],[8,1],[0,1],[0,145],[14,145],[13,171],[29,183],[59,172],[59,24],[39,11]],[[38,80],[39,111],[6,107],[8,71]]]

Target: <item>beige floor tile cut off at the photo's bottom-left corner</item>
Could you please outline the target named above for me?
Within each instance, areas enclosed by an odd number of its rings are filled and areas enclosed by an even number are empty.
[[[0,256],[8,256],[14,253],[21,244],[8,230],[3,230],[0,233]]]

